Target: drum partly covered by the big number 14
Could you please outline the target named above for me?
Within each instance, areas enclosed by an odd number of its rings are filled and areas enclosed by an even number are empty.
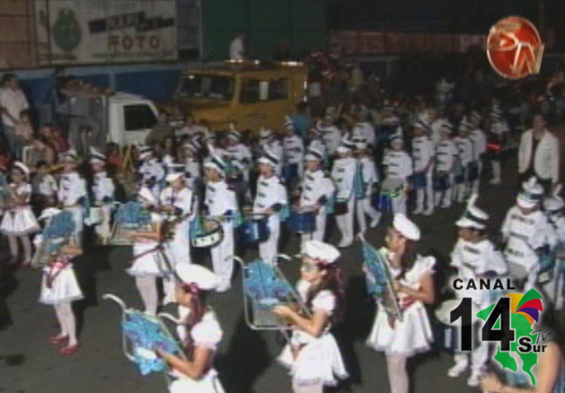
[[[461,303],[461,299],[446,300],[440,304],[435,312],[437,320],[437,340],[440,348],[449,352],[460,352],[460,321],[450,322],[450,313]],[[473,324],[473,349],[476,348],[479,340],[477,339],[477,331],[479,324]]]

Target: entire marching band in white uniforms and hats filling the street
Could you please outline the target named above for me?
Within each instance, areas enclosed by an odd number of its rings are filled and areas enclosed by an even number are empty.
[[[303,307],[297,310],[293,304],[280,302],[268,309],[284,321],[281,329],[290,332],[279,361],[290,369],[293,391],[321,393],[324,386],[334,386],[348,375],[332,335],[333,322],[343,315],[345,289],[341,253],[324,242],[328,218],[335,217],[341,235],[337,247],[348,248],[357,238],[355,222],[362,234],[390,212],[393,220],[386,229],[385,246],[371,252],[386,272],[386,296],[392,299],[385,302],[385,295],[375,296],[377,312],[367,344],[385,354],[390,391],[407,393],[407,361],[430,350],[434,322],[427,306],[437,303],[436,260],[418,254],[416,245],[425,234],[406,216],[412,199],[413,213],[424,215],[468,201],[463,216],[455,222],[459,238],[451,253],[451,268],[457,277],[507,275],[524,289],[543,291],[555,308],[563,307],[565,204],[559,189],[545,197],[536,178],[524,182],[516,206],[503,222],[501,244],[489,240],[489,215],[476,206],[487,150],[479,113],[469,113],[454,127],[435,113],[421,112],[415,116],[413,132],[408,132],[389,108],[388,113],[383,112],[383,124],[392,131],[384,142],[376,138],[366,108],[354,113],[357,123],[351,125],[351,133],[337,125],[339,115],[336,108],[328,108],[310,130],[308,141],[297,136],[297,126],[286,117],[281,134],[261,129],[256,145],[231,125],[225,138],[191,126],[190,134],[181,139],[178,158],[170,153],[166,159],[159,158],[149,146],[134,146],[137,187],[121,204],[116,197],[118,187],[106,172],[104,154],[90,151],[93,182],[87,187],[77,170],[79,156],[74,150],[67,151],[56,194],[50,190],[53,181],[44,179],[45,173],[39,187],[49,198],[40,217],[47,220],[44,233],[35,241],[41,261],[34,264],[44,271],[40,302],[54,306],[60,326],[60,333],[50,342],[62,346],[64,355],[79,348],[71,303],[82,298],[82,292],[72,259],[84,246],[83,225],[94,226],[99,244],[132,246],[127,273],[135,278],[147,316],[157,318],[160,307],[167,303],[179,305],[182,321],[176,330],[186,356],[150,348],[167,365],[169,391],[221,393],[213,363],[223,333],[214,311],[204,303],[203,292],[231,289],[236,246],[242,238],[247,244],[258,244],[259,259],[276,267],[282,234],[289,230],[301,238],[301,280],[296,290]],[[506,133],[506,120],[493,106],[489,136],[499,142]],[[501,178],[498,154],[489,156],[493,184]],[[11,202],[0,225],[13,260],[18,258],[20,239],[24,264],[32,263],[29,235],[41,230],[29,206],[32,187],[28,177],[29,169],[16,162],[12,183],[6,186]],[[62,221],[55,217],[63,213],[71,217],[72,225],[55,228],[50,224]],[[213,272],[193,260],[193,247],[210,249]],[[374,284],[370,266],[363,270]],[[549,279],[541,280],[542,273],[549,274]],[[162,302],[158,280],[163,281]],[[471,296],[477,308],[493,302],[488,291],[459,292],[457,296]],[[489,351],[487,344],[470,354],[454,351],[455,364],[447,374],[457,377],[470,368],[468,385],[479,386]],[[485,381],[499,382],[492,377]]]

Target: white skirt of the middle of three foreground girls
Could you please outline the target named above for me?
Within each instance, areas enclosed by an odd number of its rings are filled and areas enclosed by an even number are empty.
[[[282,350],[280,364],[290,369],[292,380],[297,385],[307,386],[322,383],[324,386],[336,386],[338,379],[349,375],[341,357],[340,348],[331,333],[307,343],[294,359],[290,345]]]

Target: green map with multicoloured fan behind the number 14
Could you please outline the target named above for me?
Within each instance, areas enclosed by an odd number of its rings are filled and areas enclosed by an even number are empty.
[[[540,340],[540,331],[532,328],[534,322],[540,321],[544,311],[542,296],[534,289],[524,295],[509,294],[503,296],[496,304],[479,311],[477,317],[485,321],[482,331],[483,341],[499,341],[494,360],[503,369],[528,374],[533,385],[536,378],[532,368],[537,364],[538,353],[544,351]]]

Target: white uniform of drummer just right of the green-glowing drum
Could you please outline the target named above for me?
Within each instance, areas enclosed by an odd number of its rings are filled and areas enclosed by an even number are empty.
[[[416,188],[416,211],[433,212],[433,170],[435,148],[432,139],[427,136],[412,139],[412,159],[414,159],[414,172],[423,173],[425,187]],[[424,208],[424,199],[427,207]]]

